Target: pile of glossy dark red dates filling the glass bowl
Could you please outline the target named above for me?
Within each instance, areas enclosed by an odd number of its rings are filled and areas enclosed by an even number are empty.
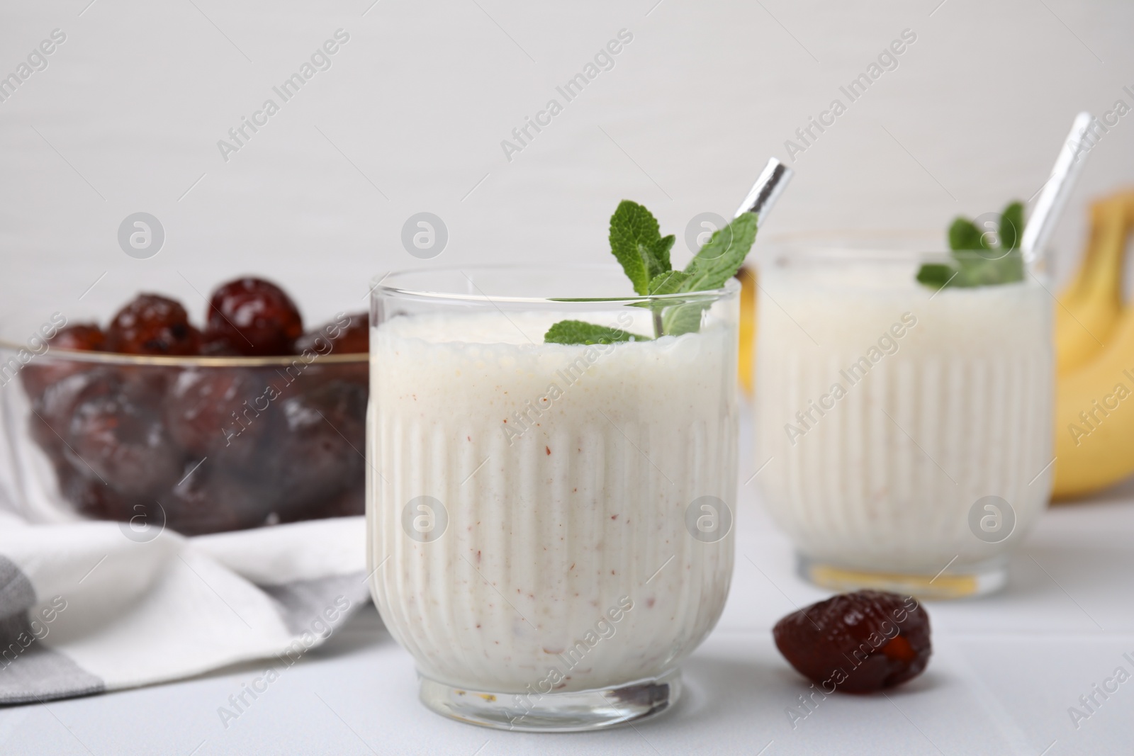
[[[367,325],[362,313],[304,331],[291,298],[256,278],[219,287],[203,329],[141,294],[105,329],[61,329],[20,373],[31,436],[86,517],[196,535],[361,515]]]

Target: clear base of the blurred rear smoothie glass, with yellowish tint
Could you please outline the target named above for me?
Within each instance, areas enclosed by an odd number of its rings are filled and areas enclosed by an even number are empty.
[[[796,555],[799,576],[830,591],[873,588],[917,598],[967,598],[995,593],[1008,583],[1008,559],[979,564],[950,564],[936,575],[873,572],[828,564],[803,554]]]

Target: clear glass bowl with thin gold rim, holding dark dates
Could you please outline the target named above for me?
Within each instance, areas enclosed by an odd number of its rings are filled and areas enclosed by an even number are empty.
[[[185,535],[362,515],[367,360],[0,341],[0,504]]]

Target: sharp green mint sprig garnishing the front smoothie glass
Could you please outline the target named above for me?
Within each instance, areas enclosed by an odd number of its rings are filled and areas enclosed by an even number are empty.
[[[661,236],[658,219],[636,202],[624,199],[610,216],[610,252],[640,296],[665,296],[710,291],[725,286],[744,263],[756,239],[756,216],[744,213],[713,232],[684,271],[672,270],[669,252],[674,235]],[[642,303],[653,311],[654,337],[695,333],[701,314],[712,306],[705,297],[667,298]],[[625,338],[616,338],[621,334]],[[559,321],[543,337],[547,343],[612,343],[648,341],[604,325],[584,321]]]

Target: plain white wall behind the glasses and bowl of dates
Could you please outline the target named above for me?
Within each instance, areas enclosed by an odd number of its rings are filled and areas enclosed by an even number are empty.
[[[797,171],[769,233],[943,229],[1031,196],[1076,111],[1134,105],[1119,0],[9,1],[0,75],[57,28],[46,68],[0,102],[6,330],[105,317],[138,288],[200,316],[194,289],[242,272],[280,279],[313,317],[354,308],[373,274],[422,264],[400,241],[421,211],[449,235],[426,265],[608,260],[620,198],[682,238],[696,213],[734,210],[769,155]],[[340,28],[330,68],[284,102],[272,87]],[[556,87],[620,29],[612,68],[568,102]],[[904,29],[916,41],[850,102],[839,87]],[[226,161],[218,141],[269,97],[279,112]],[[836,97],[846,112],[789,160]],[[561,112],[509,160],[501,142],[551,99]],[[1090,155],[1057,277],[1086,203],[1124,181],[1134,116]],[[166,232],[149,260],[117,240],[138,211]]]

